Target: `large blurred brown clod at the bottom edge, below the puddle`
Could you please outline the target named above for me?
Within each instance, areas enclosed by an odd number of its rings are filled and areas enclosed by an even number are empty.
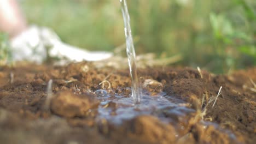
[[[154,116],[141,115],[130,119],[122,127],[112,128],[112,137],[121,139],[120,134],[138,143],[173,143],[176,130],[172,125],[161,122]]]

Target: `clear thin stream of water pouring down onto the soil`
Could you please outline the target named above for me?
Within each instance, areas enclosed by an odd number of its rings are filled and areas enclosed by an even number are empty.
[[[128,57],[130,75],[131,75],[131,89],[132,97],[135,104],[138,104],[141,101],[141,92],[140,85],[137,78],[137,69],[136,69],[136,54],[132,40],[131,26],[130,26],[130,15],[127,8],[126,0],[119,0],[121,2],[121,10],[124,18],[124,31],[126,38],[126,53]]]

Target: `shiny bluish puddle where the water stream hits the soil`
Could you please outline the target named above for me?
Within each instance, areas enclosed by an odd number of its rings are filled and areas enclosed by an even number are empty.
[[[115,124],[121,124],[123,121],[135,118],[139,115],[159,115],[161,111],[166,110],[173,112],[173,115],[185,116],[185,113],[195,112],[182,104],[185,101],[172,98],[161,92],[154,97],[141,93],[141,102],[134,105],[133,98],[130,95],[110,94],[106,90],[100,89],[95,92],[98,100],[101,101],[98,107],[99,118],[106,118]],[[159,117],[159,116],[157,116]],[[163,117],[164,118],[164,117]],[[165,119],[162,119],[165,120]]]

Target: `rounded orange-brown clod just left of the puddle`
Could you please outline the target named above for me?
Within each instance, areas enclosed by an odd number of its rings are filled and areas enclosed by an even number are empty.
[[[76,95],[70,91],[60,92],[51,101],[51,111],[63,117],[85,117],[99,103],[92,95]]]

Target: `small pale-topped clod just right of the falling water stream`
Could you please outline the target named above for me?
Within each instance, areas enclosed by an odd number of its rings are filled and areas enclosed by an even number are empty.
[[[158,82],[156,80],[146,79],[143,82],[142,88],[150,92],[151,95],[156,95],[162,92],[162,89],[164,89],[164,85],[162,85],[161,82]]]

